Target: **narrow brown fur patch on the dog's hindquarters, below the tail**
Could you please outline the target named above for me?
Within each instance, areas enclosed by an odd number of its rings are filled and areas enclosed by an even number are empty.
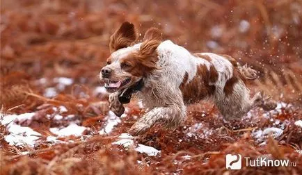
[[[246,78],[239,72],[239,69],[237,67],[233,67],[233,76],[232,78],[228,79],[225,83],[225,87],[223,88],[223,92],[225,92],[225,97],[228,97],[230,94],[232,94],[234,90],[234,85],[239,80],[246,83]]]

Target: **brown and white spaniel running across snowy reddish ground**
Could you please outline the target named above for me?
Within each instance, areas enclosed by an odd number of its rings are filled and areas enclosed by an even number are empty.
[[[242,67],[227,55],[190,53],[170,40],[163,41],[157,28],[150,28],[143,42],[134,44],[134,25],[123,23],[111,36],[111,56],[100,78],[109,95],[109,107],[120,116],[122,103],[136,93],[148,113],[130,128],[139,135],[156,122],[169,128],[186,119],[186,104],[213,99],[224,119],[240,119],[251,108],[276,107],[262,93],[250,98],[245,82],[257,78],[255,70]]]

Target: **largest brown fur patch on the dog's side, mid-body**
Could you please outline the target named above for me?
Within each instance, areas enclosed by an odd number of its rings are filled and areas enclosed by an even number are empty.
[[[218,72],[214,66],[207,69],[205,65],[198,65],[196,76],[188,83],[188,73],[184,74],[184,79],[180,85],[182,96],[185,103],[195,103],[209,97],[215,92],[215,85],[209,85],[214,83],[218,79]]]

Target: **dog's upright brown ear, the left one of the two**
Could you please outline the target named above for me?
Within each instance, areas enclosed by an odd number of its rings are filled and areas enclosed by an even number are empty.
[[[136,40],[134,25],[129,22],[124,22],[118,28],[118,31],[113,33],[110,38],[110,51],[117,51],[124,47],[129,47]]]

